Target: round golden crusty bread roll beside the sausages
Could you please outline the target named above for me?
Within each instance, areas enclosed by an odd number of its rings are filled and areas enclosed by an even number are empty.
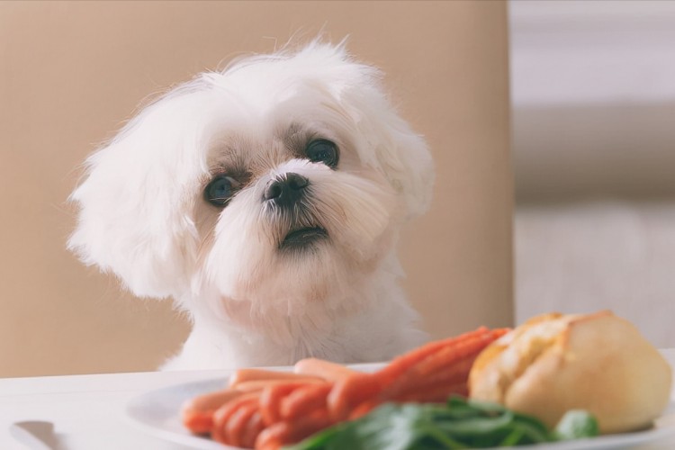
[[[497,401],[554,427],[588,410],[601,433],[647,428],[671,394],[671,367],[630,322],[609,311],[546,314],[487,347],[469,376],[471,397]]]

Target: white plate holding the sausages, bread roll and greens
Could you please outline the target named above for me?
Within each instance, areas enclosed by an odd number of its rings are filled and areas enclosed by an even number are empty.
[[[363,372],[373,372],[382,365],[354,366]],[[289,368],[288,370],[291,370]],[[184,401],[202,393],[217,391],[225,386],[225,378],[204,380],[202,382],[184,383],[176,386],[147,392],[132,399],[127,405],[127,416],[132,423],[155,437],[191,446],[203,450],[235,449],[223,446],[206,437],[192,435],[181,423],[180,410]],[[664,442],[667,439],[668,443]],[[671,402],[662,417],[656,421],[654,428],[623,435],[610,435],[560,442],[544,445],[551,450],[600,450],[638,447],[649,449],[675,448],[675,402]],[[541,446],[527,446],[534,448]]]

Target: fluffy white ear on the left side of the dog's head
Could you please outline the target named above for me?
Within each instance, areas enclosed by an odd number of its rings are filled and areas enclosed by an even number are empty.
[[[187,289],[198,246],[193,202],[204,173],[205,90],[196,83],[150,104],[88,157],[71,194],[68,248],[139,296]]]

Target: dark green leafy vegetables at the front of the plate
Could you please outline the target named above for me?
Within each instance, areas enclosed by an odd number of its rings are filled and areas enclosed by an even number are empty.
[[[432,450],[522,446],[598,435],[586,411],[566,414],[554,430],[503,406],[453,397],[446,405],[388,403],[287,450]]]

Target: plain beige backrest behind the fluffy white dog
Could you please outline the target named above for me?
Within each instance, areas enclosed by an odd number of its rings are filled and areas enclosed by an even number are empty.
[[[434,337],[508,325],[511,175],[501,2],[1,2],[0,376],[150,370],[188,326],[65,250],[78,164],[148,94],[321,28],[388,74],[437,162],[405,236]]]

